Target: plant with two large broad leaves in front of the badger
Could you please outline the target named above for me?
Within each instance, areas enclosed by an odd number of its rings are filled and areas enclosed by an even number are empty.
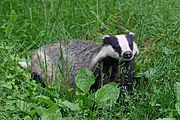
[[[99,90],[97,90],[94,94],[90,94],[87,97],[85,96],[90,91],[90,87],[95,81],[94,78],[95,77],[93,76],[92,71],[88,69],[80,70],[80,72],[78,73],[76,77],[76,84],[77,84],[77,87],[81,89],[83,93],[85,94],[81,94],[84,96],[79,96],[79,98],[80,99],[83,98],[84,100],[83,102],[85,103],[87,101],[91,101],[91,104],[93,102],[96,102],[99,105],[101,104],[101,107],[107,106],[108,102],[109,102],[109,105],[112,105],[113,103],[115,103],[120,93],[119,88],[117,88],[117,84],[115,83],[106,84],[102,86]]]

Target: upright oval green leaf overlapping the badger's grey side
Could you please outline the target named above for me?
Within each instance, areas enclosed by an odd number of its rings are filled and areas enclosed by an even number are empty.
[[[79,71],[76,76],[76,85],[84,93],[88,93],[91,85],[95,82],[95,77],[92,71],[84,68]]]

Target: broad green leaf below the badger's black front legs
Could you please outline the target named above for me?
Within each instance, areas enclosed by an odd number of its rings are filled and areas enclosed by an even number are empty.
[[[97,92],[95,93],[95,101],[97,103],[103,103],[112,101],[116,102],[119,96],[119,89],[117,88],[117,84],[109,83],[102,86]]]

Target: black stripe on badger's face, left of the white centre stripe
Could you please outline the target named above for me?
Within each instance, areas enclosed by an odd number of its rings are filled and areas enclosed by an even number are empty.
[[[112,48],[118,52],[119,54],[121,54],[122,50],[121,47],[119,46],[119,42],[118,39],[114,36],[112,37],[105,37],[104,38],[104,45],[111,45]]]

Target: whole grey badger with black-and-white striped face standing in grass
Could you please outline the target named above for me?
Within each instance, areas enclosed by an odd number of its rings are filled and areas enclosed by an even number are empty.
[[[102,44],[82,40],[60,41],[34,51],[31,61],[32,78],[37,82],[47,80],[48,83],[65,79],[68,85],[75,88],[75,76],[86,67],[96,77],[92,90],[96,91],[109,82],[121,81],[130,91],[134,60],[138,53],[132,32],[105,35]]]

